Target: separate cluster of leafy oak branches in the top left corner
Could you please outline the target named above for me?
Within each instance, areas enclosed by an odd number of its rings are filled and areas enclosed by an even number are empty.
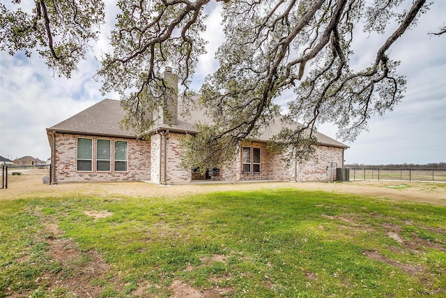
[[[22,7],[23,6],[23,7]],[[104,21],[102,0],[20,0],[0,3],[0,50],[35,50],[57,75],[70,77],[97,40]]]

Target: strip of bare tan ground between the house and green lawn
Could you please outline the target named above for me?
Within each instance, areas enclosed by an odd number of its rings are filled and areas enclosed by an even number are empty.
[[[147,182],[70,183],[48,185],[42,183],[47,170],[29,170],[20,176],[8,177],[8,188],[0,189],[1,199],[45,198],[64,195],[95,195],[98,197],[184,197],[213,191],[253,191],[265,188],[295,188],[307,191],[328,191],[366,195],[384,200],[408,200],[446,205],[446,184],[408,181],[351,181],[325,182],[246,182],[187,184],[162,186]]]

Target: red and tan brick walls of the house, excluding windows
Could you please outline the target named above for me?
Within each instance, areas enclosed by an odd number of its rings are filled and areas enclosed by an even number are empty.
[[[93,139],[93,171],[78,172],[77,169],[77,138]],[[192,171],[180,167],[181,148],[180,133],[167,133],[166,141],[166,177],[164,181],[164,136],[155,134],[151,140],[132,140],[107,137],[91,137],[89,135],[56,134],[56,183],[81,181],[140,181],[150,180],[155,184],[189,184],[192,181]],[[95,171],[95,141],[97,139],[125,140],[128,142],[128,171],[115,172],[112,162],[110,172]],[[266,143],[249,142],[243,147],[260,148],[261,165],[259,173],[244,173],[242,171],[241,147],[240,154],[233,162],[220,168],[220,174],[213,179],[220,181],[330,181],[330,170],[333,170],[333,180],[336,179],[336,167],[343,165],[342,148],[319,146],[314,157],[302,163],[286,165],[281,156],[268,151]],[[113,147],[112,147],[113,148]],[[114,150],[111,158],[113,161]],[[337,165],[330,167],[330,163]],[[161,171],[161,172],[160,172]],[[195,174],[197,176],[197,174]],[[194,179],[202,177],[194,177]]]

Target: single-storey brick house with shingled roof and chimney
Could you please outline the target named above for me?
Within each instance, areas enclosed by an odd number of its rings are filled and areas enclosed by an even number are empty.
[[[164,78],[176,82],[167,69]],[[177,83],[176,83],[177,84]],[[180,139],[195,134],[194,121],[203,121],[199,110],[184,116],[178,96],[168,105],[174,117],[153,113],[155,126],[138,139],[123,130],[119,121],[125,111],[119,100],[105,99],[78,114],[47,128],[51,147],[52,183],[79,181],[151,181],[155,184],[189,184],[195,180],[220,181],[327,181],[336,167],[344,165],[348,147],[316,133],[320,145],[314,158],[286,165],[281,156],[268,151],[267,141],[282,129],[275,121],[265,133],[239,145],[240,154],[224,167],[206,175],[180,167]],[[330,172],[332,171],[332,172]]]

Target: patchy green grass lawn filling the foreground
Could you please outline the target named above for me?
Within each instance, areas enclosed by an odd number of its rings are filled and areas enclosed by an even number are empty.
[[[79,254],[54,259],[54,239]],[[444,297],[446,207],[286,189],[0,201],[0,297],[73,297],[51,281],[93,261],[98,297],[169,297],[173,281],[213,297]]]

